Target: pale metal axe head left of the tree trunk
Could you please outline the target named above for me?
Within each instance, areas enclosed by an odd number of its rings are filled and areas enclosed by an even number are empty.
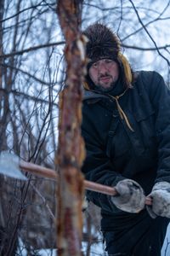
[[[3,151],[0,154],[0,174],[21,180],[27,180],[26,176],[20,172],[19,157],[15,154],[10,154],[7,151]]]

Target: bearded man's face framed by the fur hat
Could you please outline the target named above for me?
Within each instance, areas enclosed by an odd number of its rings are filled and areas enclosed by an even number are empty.
[[[109,89],[118,79],[119,67],[116,61],[103,59],[94,62],[94,64],[89,68],[88,73],[90,79],[92,79],[96,86]]]

